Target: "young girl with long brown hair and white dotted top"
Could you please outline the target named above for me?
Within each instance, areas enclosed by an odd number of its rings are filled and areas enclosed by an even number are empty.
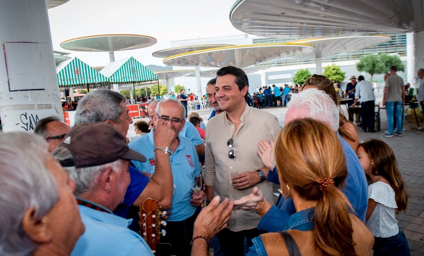
[[[374,256],[410,255],[395,214],[405,211],[408,195],[392,149],[377,139],[359,145],[357,155],[371,184],[365,225],[374,235]]]

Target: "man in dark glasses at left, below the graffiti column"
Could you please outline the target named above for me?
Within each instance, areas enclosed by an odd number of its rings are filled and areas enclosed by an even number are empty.
[[[48,116],[40,119],[34,129],[34,133],[41,135],[49,143],[49,152],[53,152],[62,143],[65,135],[71,127],[60,121],[57,116]]]

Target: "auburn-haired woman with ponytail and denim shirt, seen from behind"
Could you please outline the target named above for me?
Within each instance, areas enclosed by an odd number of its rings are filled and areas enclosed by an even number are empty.
[[[294,251],[296,255],[368,256],[374,237],[349,213],[350,203],[339,190],[347,176],[346,160],[330,127],[312,118],[296,119],[279,133],[274,152],[276,156],[284,153],[284,157],[276,157],[281,193],[293,199],[296,213],[287,216],[285,232],[254,238],[246,255],[289,255]],[[256,187],[254,193],[233,203],[234,209],[259,215],[271,208]],[[196,255],[206,255],[193,242],[195,249]]]

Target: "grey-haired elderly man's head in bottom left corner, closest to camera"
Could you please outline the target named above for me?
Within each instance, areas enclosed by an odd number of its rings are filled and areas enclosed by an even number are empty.
[[[84,225],[75,183],[28,132],[0,135],[0,255],[69,255]]]

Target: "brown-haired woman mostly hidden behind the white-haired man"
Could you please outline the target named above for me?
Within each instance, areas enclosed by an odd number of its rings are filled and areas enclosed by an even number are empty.
[[[318,74],[313,74],[309,77],[303,87],[302,91],[309,88],[317,88],[318,90],[324,91],[326,94],[329,94],[336,106],[340,106],[340,100],[338,93],[334,89],[334,85],[331,83],[331,80],[328,77]],[[342,111],[339,113],[339,129],[338,132],[340,136],[346,140],[347,143],[352,147],[356,152],[359,145],[358,133],[355,126],[346,119],[346,116]]]

